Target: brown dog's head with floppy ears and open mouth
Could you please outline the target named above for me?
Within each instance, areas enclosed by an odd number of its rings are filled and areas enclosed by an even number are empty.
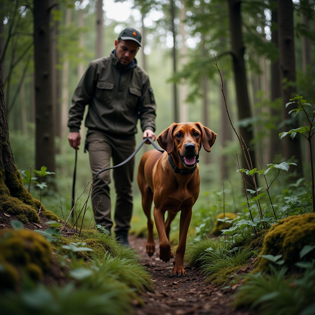
[[[172,123],[157,136],[158,144],[167,152],[179,155],[181,162],[192,167],[201,145],[207,151],[215,143],[216,134],[201,123]]]

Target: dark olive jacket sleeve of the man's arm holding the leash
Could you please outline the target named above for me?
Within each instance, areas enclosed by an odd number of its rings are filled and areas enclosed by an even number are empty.
[[[142,131],[151,129],[155,131],[155,100],[153,90],[150,86],[149,78],[146,76],[141,90],[141,97],[139,100],[139,118]]]

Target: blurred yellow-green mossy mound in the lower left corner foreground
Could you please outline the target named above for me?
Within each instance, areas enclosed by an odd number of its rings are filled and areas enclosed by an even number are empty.
[[[34,280],[43,278],[50,268],[50,243],[29,230],[0,230],[0,289],[14,288],[22,274]]]

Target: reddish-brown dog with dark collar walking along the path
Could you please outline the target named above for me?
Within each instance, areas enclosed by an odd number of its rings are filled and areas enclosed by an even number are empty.
[[[142,207],[148,218],[146,252],[152,256],[155,250],[151,205],[154,201],[154,222],[160,245],[160,259],[171,258],[169,243],[170,224],[180,213],[179,243],[173,262],[172,274],[185,276],[184,254],[192,206],[199,195],[198,156],[201,149],[211,151],[216,134],[201,123],[173,123],[157,137],[158,144],[166,151],[155,149],[146,152],[138,168],[138,185],[142,195]],[[168,216],[164,224],[164,215]]]

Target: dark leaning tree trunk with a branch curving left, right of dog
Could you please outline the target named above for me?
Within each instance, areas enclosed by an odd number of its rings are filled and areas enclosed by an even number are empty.
[[[243,35],[241,28],[242,27],[241,2],[238,0],[228,0],[228,4],[230,15],[233,68],[238,104],[238,118],[244,119],[252,117],[251,114],[252,110],[249,104],[246,70],[244,62],[245,47],[243,43]],[[249,123],[247,127],[240,127],[239,134],[243,137],[246,145],[249,147],[250,159],[253,164],[253,168],[255,168],[255,149],[252,145],[250,145],[250,141],[253,139],[253,125]],[[248,168],[247,164],[244,161],[244,158],[242,162],[242,167],[246,169]]]

